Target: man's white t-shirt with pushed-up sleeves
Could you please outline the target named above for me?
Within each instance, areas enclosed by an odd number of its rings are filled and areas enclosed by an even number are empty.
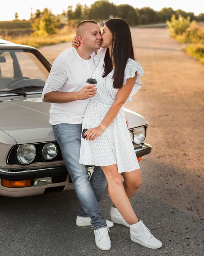
[[[82,59],[75,48],[61,52],[53,62],[43,92],[78,92],[87,85],[86,80],[92,77],[96,68],[95,52],[89,60]],[[50,124],[82,124],[89,99],[67,103],[50,103]]]

